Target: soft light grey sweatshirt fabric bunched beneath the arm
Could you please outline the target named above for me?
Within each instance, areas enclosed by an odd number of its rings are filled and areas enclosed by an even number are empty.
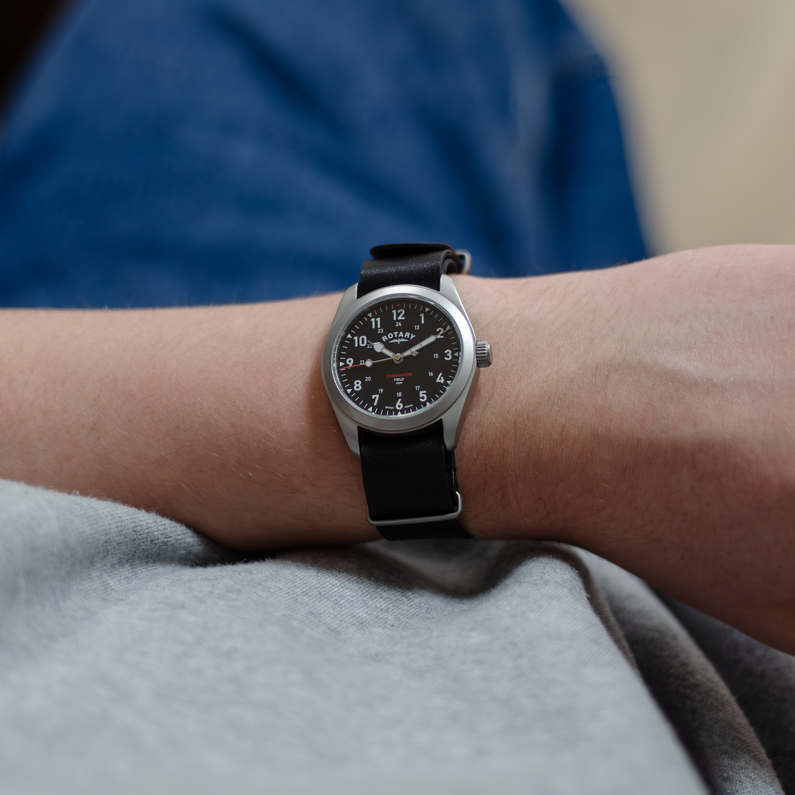
[[[793,792],[793,671],[563,545],[245,559],[0,481],[3,793]]]

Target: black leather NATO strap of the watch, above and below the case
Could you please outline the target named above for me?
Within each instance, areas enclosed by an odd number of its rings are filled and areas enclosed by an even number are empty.
[[[438,290],[443,273],[460,273],[461,259],[443,243],[375,246],[362,266],[359,297],[380,287],[421,285]],[[367,510],[390,541],[471,538],[456,519],[416,522],[459,509],[456,458],[444,444],[441,421],[419,432],[379,434],[359,429]],[[405,520],[405,524],[401,522]]]

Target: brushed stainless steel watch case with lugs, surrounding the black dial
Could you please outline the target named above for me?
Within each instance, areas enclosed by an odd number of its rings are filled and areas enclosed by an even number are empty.
[[[423,429],[441,420],[444,429],[444,444],[448,450],[453,450],[458,445],[461,436],[463,420],[469,411],[475,391],[473,387],[477,382],[479,370],[475,359],[475,344],[477,343],[475,332],[452,278],[441,277],[438,293],[436,290],[418,285],[393,285],[373,290],[372,293],[357,298],[357,286],[351,285],[345,291],[342,301],[339,302],[339,308],[337,308],[332,328],[328,332],[328,338],[323,348],[323,360],[320,368],[323,384],[332,401],[332,408],[339,420],[339,426],[345,434],[348,447],[351,448],[351,452],[355,456],[359,456],[359,428],[380,433],[405,433]],[[439,400],[409,414],[401,414],[397,417],[379,417],[377,414],[360,409],[343,392],[338,380],[336,351],[344,329],[355,316],[375,304],[404,298],[409,301],[425,301],[434,304],[448,315],[456,327],[460,339],[460,362],[452,383]]]

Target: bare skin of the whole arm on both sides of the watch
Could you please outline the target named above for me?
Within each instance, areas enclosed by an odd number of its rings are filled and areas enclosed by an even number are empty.
[[[494,350],[467,529],[580,545],[795,653],[795,247],[456,286]],[[320,381],[338,303],[0,312],[0,476],[238,549],[377,538]]]

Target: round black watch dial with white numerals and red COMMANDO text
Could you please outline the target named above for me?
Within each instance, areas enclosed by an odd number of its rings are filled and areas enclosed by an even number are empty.
[[[439,307],[409,299],[366,308],[343,329],[335,370],[343,394],[381,417],[410,414],[447,392],[460,362],[456,327]]]

